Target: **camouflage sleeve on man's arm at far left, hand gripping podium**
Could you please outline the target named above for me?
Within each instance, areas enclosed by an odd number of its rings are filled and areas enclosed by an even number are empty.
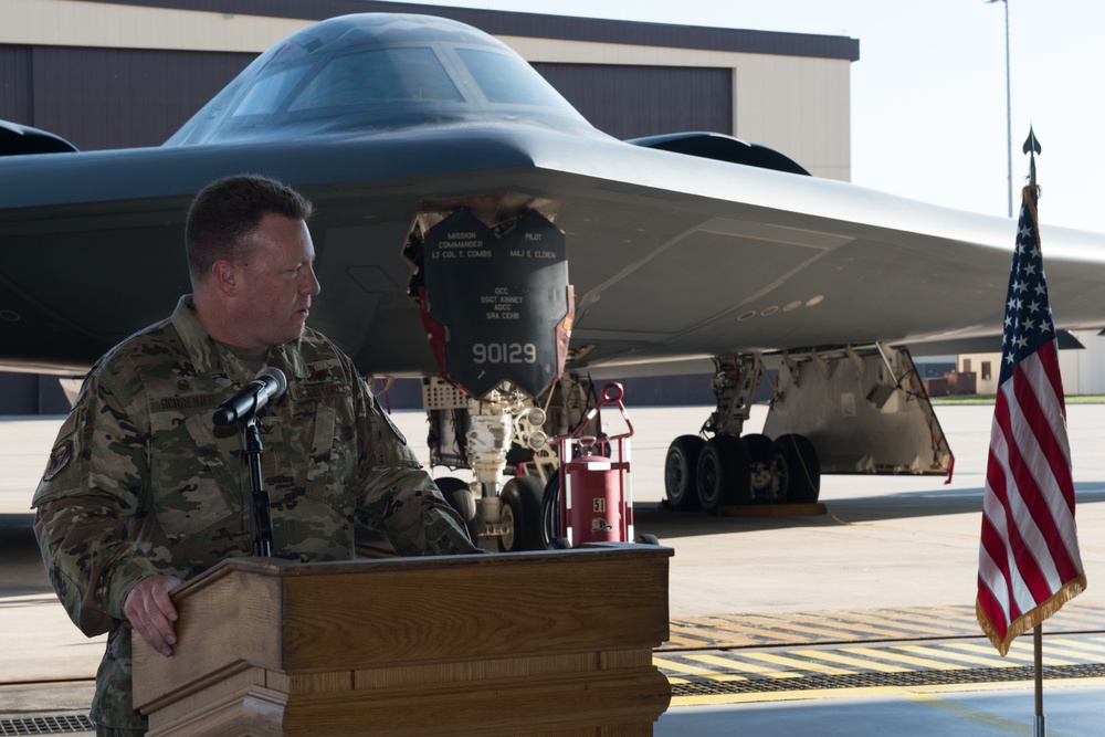
[[[144,433],[115,392],[92,376],[62,424],[34,493],[34,531],[50,580],[88,636],[125,620],[126,594],[158,572],[131,541],[146,449]]]

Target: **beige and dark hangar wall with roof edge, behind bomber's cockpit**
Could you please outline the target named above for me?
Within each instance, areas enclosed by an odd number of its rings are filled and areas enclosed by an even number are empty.
[[[239,12],[202,10],[204,6]],[[244,60],[327,17],[328,11],[333,11],[330,14],[354,10],[424,12],[465,22],[482,21],[475,24],[485,30],[491,25],[537,28],[537,22],[544,19],[540,28],[546,38],[490,32],[534,63],[538,71],[559,74],[554,83],[562,85],[558,88],[572,103],[582,101],[579,104],[587,107],[589,99],[597,99],[588,97],[588,86],[591,77],[598,76],[617,78],[612,86],[629,93],[636,91],[635,98],[651,95],[650,104],[638,107],[631,127],[620,123],[625,117],[623,104],[608,99],[604,105],[591,105],[585,115],[596,127],[627,138],[676,130],[718,130],[727,116],[728,124],[722,133],[776,148],[814,176],[841,180],[851,177],[850,73],[852,61],[859,59],[859,45],[852,39],[589,19],[558,19],[556,25],[567,30],[560,34],[566,38],[547,38],[548,27],[554,25],[549,22],[551,17],[369,1],[284,0],[263,6],[270,13],[283,9],[284,13],[303,18],[240,12],[243,8],[255,12],[259,6],[233,0],[114,3],[4,0],[0,3],[0,82],[6,90],[0,93],[0,118],[52,130],[82,148],[148,146],[168,137],[161,134],[169,126],[158,124],[157,112],[149,115],[160,138],[138,133],[137,139],[104,145],[103,136],[88,135],[94,145],[82,146],[80,141],[86,137],[80,129],[82,125],[93,125],[97,117],[114,116],[97,115],[97,97],[74,95],[74,91],[82,85],[90,91],[98,87],[98,99],[108,104],[113,97],[122,96],[113,85],[126,85],[130,102],[141,101],[146,106],[157,102],[172,107],[173,101],[183,105],[197,98],[206,102],[211,95],[209,90],[220,88],[233,72],[228,76],[225,72],[206,69],[204,65],[212,67],[220,62],[196,61],[206,55],[200,52],[242,54]],[[593,40],[599,35],[604,38]],[[640,39],[652,43],[633,42]],[[32,62],[41,57],[44,65],[32,63],[29,75],[20,77],[18,61],[11,56],[13,48],[30,54]],[[70,51],[62,52],[59,48]],[[102,52],[97,56],[90,53],[93,49],[117,53]],[[134,66],[127,67],[120,59],[124,50],[137,54]],[[154,54],[155,51],[162,54]],[[54,62],[54,52],[69,54],[69,61]],[[162,65],[168,66],[162,70]],[[564,74],[569,65],[580,74]],[[126,69],[136,72],[129,77],[125,73],[119,76]],[[162,78],[158,80],[158,75]],[[706,85],[708,90],[696,94],[699,75],[712,81],[727,76],[728,95],[717,92],[717,82],[711,82]],[[688,78],[695,78],[695,83],[688,85]],[[35,99],[22,106],[10,102],[9,93],[14,90],[11,94],[21,94],[19,88],[28,85],[27,80],[35,98],[53,95],[55,101],[66,101],[73,108],[80,107],[80,114],[72,117],[84,123],[74,119],[72,129],[59,129],[49,123],[61,119],[70,125],[71,122],[57,114],[56,108],[48,106],[40,110],[41,104],[35,104]],[[199,88],[190,88],[197,85]],[[169,95],[173,99],[167,99]],[[78,106],[78,101],[92,107]],[[31,119],[15,115],[28,113]],[[168,115],[164,113],[162,118]],[[168,133],[185,119],[187,116],[173,118]],[[119,124],[120,118],[115,117],[114,123]]]

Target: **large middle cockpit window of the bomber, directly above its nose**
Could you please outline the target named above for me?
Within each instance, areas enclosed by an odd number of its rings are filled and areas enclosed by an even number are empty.
[[[399,46],[330,60],[288,109],[428,101],[463,102],[463,97],[431,49]]]

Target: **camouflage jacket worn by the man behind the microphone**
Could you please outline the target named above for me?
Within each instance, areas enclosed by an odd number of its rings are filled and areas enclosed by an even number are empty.
[[[112,349],[88,375],[34,494],[35,534],[69,615],[109,632],[93,719],[143,729],[131,707],[130,628],[140,579],[188,579],[250,556],[251,480],[236,425],[214,409],[255,372],[212,340],[181,297],[172,316]],[[271,348],[287,392],[261,413],[274,556],[354,557],[354,519],[400,555],[477,551],[351,361],[311,329]]]

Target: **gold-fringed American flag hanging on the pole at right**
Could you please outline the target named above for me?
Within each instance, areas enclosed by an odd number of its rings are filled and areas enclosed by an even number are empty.
[[[1013,638],[1086,588],[1036,197],[1034,186],[1024,188],[1006,299],[978,555],[975,610],[1002,655]]]

